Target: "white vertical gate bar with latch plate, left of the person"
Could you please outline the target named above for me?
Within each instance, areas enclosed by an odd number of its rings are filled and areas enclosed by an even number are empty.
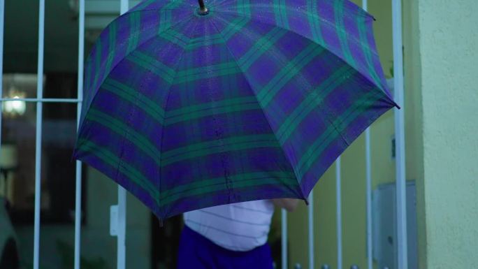
[[[119,13],[128,11],[128,0],[119,0]],[[117,235],[117,268],[126,268],[126,189],[118,185],[118,235]]]

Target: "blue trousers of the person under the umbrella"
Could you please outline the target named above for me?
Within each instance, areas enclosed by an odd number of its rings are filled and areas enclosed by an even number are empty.
[[[272,269],[273,259],[266,243],[247,252],[219,247],[187,226],[181,233],[178,269]]]

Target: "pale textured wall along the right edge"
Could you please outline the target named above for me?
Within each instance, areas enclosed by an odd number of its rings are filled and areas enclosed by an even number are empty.
[[[477,268],[478,3],[418,3],[424,175],[419,195],[426,217],[421,264]]]

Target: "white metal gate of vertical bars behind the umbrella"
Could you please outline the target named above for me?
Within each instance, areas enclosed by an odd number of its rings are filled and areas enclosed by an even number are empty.
[[[363,8],[367,10],[367,0],[362,0]],[[404,133],[404,106],[403,106],[403,52],[402,52],[402,8],[400,0],[392,1],[393,14],[393,67],[396,72],[394,78],[395,101],[401,106],[401,110],[395,108],[396,130],[396,212],[397,212],[397,238],[398,238],[398,268],[407,269],[407,219],[405,204],[405,133]],[[128,9],[127,0],[119,0],[120,13]],[[39,268],[39,242],[40,242],[40,178],[41,178],[41,126],[43,103],[77,103],[78,119],[80,117],[83,88],[83,59],[85,54],[85,0],[78,0],[79,7],[79,36],[78,36],[78,97],[77,99],[44,99],[43,98],[43,46],[45,25],[45,0],[39,0],[39,27],[38,27],[38,70],[37,70],[37,96],[34,99],[7,99],[3,98],[2,75],[3,75],[3,29],[4,29],[4,6],[5,0],[0,0],[0,110],[3,101],[25,101],[36,103],[36,158],[35,158],[35,215],[34,215],[34,269]],[[78,120],[77,120],[78,124]],[[0,117],[1,128],[1,117]],[[1,132],[0,132],[1,142]],[[367,203],[367,265],[372,269],[372,191],[371,191],[371,161],[370,161],[370,130],[365,131],[365,159],[366,159],[366,203]],[[341,208],[341,175],[340,157],[336,161],[336,217],[337,217],[337,264],[342,269],[342,208]],[[75,269],[80,269],[80,219],[81,219],[81,163],[76,161],[75,173]],[[314,233],[313,233],[313,196],[310,194],[308,210],[308,257],[309,268],[314,265]],[[117,236],[117,268],[125,268],[125,234],[126,234],[126,191],[118,187],[118,204],[111,209],[112,235]],[[282,210],[282,269],[286,269],[287,261],[287,212]]]

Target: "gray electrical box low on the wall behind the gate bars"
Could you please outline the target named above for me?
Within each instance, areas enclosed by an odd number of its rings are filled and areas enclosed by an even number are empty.
[[[417,190],[407,181],[408,268],[418,269]],[[397,268],[396,185],[380,184],[372,194],[373,259],[379,269]]]

